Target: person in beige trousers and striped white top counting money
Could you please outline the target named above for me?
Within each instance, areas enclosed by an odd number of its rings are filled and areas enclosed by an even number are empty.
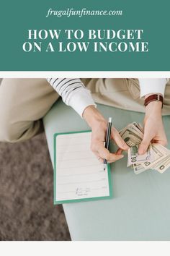
[[[0,86],[0,141],[24,141],[40,133],[42,117],[61,96],[63,102],[91,127],[91,150],[100,161],[104,158],[109,162],[119,160],[123,157],[122,150],[128,150],[128,145],[112,127],[111,138],[118,150],[111,153],[104,148],[107,121],[96,103],[145,111],[144,137],[139,148],[139,153],[143,154],[150,142],[164,146],[167,143],[162,114],[169,114],[169,98],[164,99],[163,111],[161,101],[151,101],[146,108],[143,106],[144,98],[153,94],[164,97],[165,89],[166,95],[170,95],[167,79],[4,79]]]

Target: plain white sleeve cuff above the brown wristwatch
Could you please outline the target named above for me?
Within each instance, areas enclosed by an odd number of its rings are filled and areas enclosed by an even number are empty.
[[[166,78],[139,78],[140,98],[151,93],[161,93],[164,97]]]

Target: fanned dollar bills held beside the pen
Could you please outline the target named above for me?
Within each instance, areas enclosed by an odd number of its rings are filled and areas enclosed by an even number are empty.
[[[138,154],[138,147],[143,140],[143,127],[133,122],[120,130],[120,136],[130,147],[128,150],[128,166],[135,174],[140,174],[148,169],[153,169],[161,174],[170,166],[170,150],[158,143],[149,145],[145,154]]]

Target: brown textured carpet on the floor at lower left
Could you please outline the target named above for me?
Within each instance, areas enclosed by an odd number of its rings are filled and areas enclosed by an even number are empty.
[[[53,205],[53,167],[44,133],[0,142],[0,240],[70,240],[61,205]]]

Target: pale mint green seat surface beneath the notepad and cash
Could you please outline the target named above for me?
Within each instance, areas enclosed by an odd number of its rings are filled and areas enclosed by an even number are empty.
[[[97,107],[106,118],[112,116],[117,129],[143,121],[141,113]],[[89,129],[61,100],[43,121],[52,162],[55,132]],[[164,124],[170,139],[169,116],[164,116]],[[127,156],[111,165],[112,199],[63,205],[72,240],[170,240],[170,169],[164,174],[149,170],[135,175],[126,165]]]

